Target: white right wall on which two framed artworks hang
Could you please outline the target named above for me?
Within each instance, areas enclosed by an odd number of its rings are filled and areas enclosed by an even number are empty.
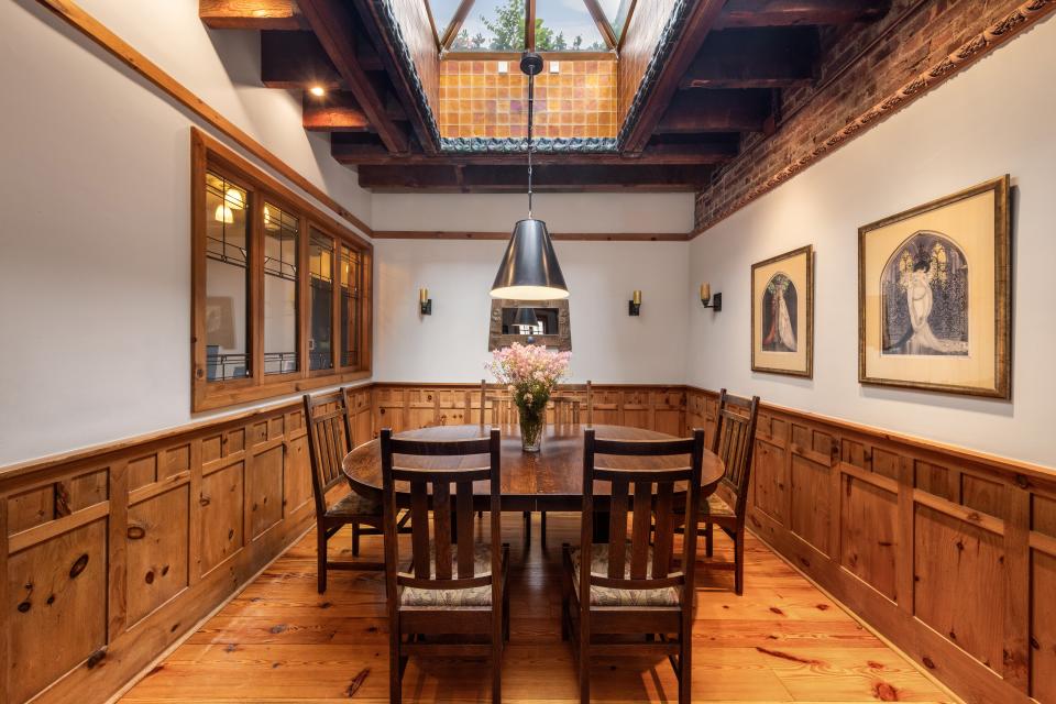
[[[997,50],[691,244],[693,284],[723,311],[690,317],[688,378],[782,406],[1056,465],[1056,21]],[[858,384],[858,227],[1009,173],[1013,193],[1012,402]],[[752,374],[755,262],[816,250],[814,380]]]

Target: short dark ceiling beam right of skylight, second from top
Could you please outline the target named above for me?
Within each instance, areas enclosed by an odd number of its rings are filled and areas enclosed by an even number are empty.
[[[815,78],[812,26],[712,32],[680,84],[685,88],[785,88]]]

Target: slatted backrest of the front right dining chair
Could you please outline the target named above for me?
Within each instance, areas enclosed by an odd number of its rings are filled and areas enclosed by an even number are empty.
[[[598,468],[596,455],[627,458],[674,458],[690,455],[689,466],[644,466],[634,469]],[[685,537],[681,565],[692,565],[696,544],[696,518],[700,508],[701,473],[704,459],[704,431],[682,440],[598,440],[593,428],[584,431],[583,524],[581,543],[584,556],[592,552],[592,529],[597,484],[609,484],[608,572],[592,574],[581,582],[582,603],[588,603],[591,584],[616,588],[658,588],[681,585],[692,590],[693,570],[672,572],[674,553],[675,492],[685,492]],[[612,462],[606,462],[612,464]],[[656,487],[656,490],[653,488]],[[628,514],[630,535],[628,536]],[[656,531],[652,521],[656,520]],[[651,540],[650,540],[651,538]],[[629,546],[630,554],[627,556]],[[650,553],[651,551],[651,553]],[[588,558],[584,557],[584,560]]]

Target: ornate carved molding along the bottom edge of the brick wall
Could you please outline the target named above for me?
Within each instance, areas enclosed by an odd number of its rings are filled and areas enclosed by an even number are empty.
[[[693,240],[707,230],[730,217],[748,204],[770,193],[784,182],[789,180],[800,172],[812,166],[823,157],[832,154],[837,148],[848,143],[859,134],[864,134],[870,128],[879,124],[884,118],[893,112],[905,108],[916,98],[920,98],[932,88],[939,86],[947,78],[955,76],[964,70],[979,58],[982,58],[994,48],[1005,43],[1020,32],[1031,28],[1034,23],[1048,15],[1056,9],[1056,0],[1028,0],[1000,21],[991,24],[985,31],[975,35],[938,64],[928,67],[919,76],[906,82],[893,94],[883,97],[873,107],[869,108],[857,118],[849,120],[847,124],[831,135],[828,139],[818,140],[817,146],[807,155],[789,164],[780,169],[763,183],[759,184],[744,196],[735,200],[729,207],[716,213],[711,219],[700,224],[689,239]],[[780,128],[778,128],[780,130]],[[761,144],[761,143],[760,143]],[[759,151],[759,145],[745,152],[739,160],[752,158],[752,154]],[[716,175],[717,177],[717,175]]]

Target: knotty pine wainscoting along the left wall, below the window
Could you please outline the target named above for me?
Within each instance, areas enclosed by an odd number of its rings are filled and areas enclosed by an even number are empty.
[[[108,700],[277,557],[306,438],[287,402],[0,470],[0,701]]]

